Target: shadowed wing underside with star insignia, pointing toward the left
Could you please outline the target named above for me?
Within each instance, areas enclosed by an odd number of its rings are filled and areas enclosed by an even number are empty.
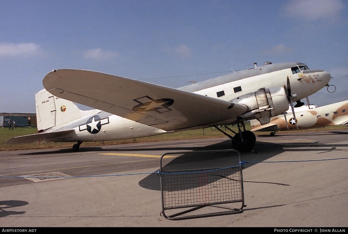
[[[59,69],[43,82],[53,95],[166,131],[207,126],[247,106],[96,71]]]

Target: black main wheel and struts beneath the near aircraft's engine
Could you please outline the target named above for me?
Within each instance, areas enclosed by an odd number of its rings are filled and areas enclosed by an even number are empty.
[[[233,131],[227,126],[224,126],[226,129],[232,131],[232,133],[236,134],[234,137],[227,134],[217,126],[214,126],[217,130],[219,130],[224,135],[228,136],[232,139],[232,146],[235,150],[241,151],[241,152],[252,152],[255,146],[256,142],[256,136],[252,131],[245,130],[244,122],[241,122],[243,126],[243,131],[240,129],[239,121],[237,121],[238,126],[238,133]]]

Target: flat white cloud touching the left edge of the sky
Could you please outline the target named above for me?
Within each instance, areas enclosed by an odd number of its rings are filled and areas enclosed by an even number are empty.
[[[0,56],[41,55],[43,50],[35,43],[0,43]]]

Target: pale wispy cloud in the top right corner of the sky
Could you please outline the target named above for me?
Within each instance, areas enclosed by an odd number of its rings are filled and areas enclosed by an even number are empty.
[[[345,4],[341,0],[290,0],[281,9],[286,17],[315,21],[320,18],[337,20]]]

